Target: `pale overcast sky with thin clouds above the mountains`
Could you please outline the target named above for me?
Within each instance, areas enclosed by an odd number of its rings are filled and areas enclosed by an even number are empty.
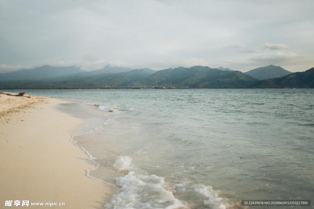
[[[313,0],[0,0],[0,72],[314,67]]]

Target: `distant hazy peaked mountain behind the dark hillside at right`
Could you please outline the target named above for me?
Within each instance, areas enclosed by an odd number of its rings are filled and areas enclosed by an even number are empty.
[[[245,72],[245,74],[253,76],[258,80],[279,78],[282,76],[289,75],[290,71],[286,71],[280,66],[268,65],[266,67],[259,67],[250,71]]]

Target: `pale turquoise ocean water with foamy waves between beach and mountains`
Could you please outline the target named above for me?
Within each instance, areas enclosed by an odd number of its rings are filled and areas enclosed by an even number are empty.
[[[105,208],[314,196],[314,89],[27,93],[73,101],[60,109],[85,119],[73,142],[95,162],[88,175],[119,189]]]

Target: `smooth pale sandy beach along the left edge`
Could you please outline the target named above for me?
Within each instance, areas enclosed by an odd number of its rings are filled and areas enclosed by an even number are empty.
[[[50,208],[103,208],[110,200],[112,188],[86,176],[95,165],[70,141],[82,119],[60,112],[61,103],[0,95],[1,208],[8,200],[65,203]]]

